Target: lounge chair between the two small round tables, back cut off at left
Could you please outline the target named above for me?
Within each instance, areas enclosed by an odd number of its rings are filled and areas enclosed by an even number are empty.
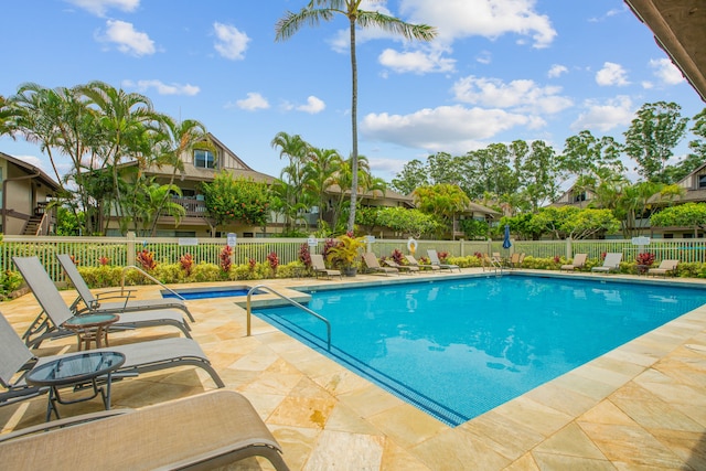
[[[120,373],[139,374],[191,365],[206,371],[217,387],[225,386],[201,346],[191,339],[162,339],[92,350],[92,352],[100,351],[120,352],[125,355],[125,363],[117,370],[116,375]],[[12,329],[10,322],[0,314],[0,383],[8,389],[0,394],[0,405],[12,404],[42,394],[43,389],[32,388],[25,383],[25,375],[34,367],[73,355],[76,353],[34,356]],[[6,463],[3,462],[2,465],[6,467]]]

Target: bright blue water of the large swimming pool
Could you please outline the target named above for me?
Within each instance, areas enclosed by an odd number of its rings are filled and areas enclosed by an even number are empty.
[[[706,303],[706,291],[504,276],[313,292],[255,314],[456,426]]]

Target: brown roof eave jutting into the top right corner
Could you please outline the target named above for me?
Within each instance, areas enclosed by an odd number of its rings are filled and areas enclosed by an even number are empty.
[[[706,101],[706,1],[624,0]]]

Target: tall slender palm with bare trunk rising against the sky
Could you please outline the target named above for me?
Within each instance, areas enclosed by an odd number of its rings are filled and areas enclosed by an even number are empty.
[[[355,56],[355,28],[376,26],[383,31],[402,35],[406,40],[431,41],[437,32],[427,24],[410,24],[398,18],[389,17],[377,11],[361,10],[362,0],[311,0],[298,13],[287,11],[276,26],[275,41],[285,41],[297,33],[303,25],[318,25],[321,21],[331,21],[333,15],[343,14],[349,20],[351,39],[351,130],[352,130],[352,175],[351,213],[347,229],[353,231],[355,223],[355,205],[357,189],[357,60]]]

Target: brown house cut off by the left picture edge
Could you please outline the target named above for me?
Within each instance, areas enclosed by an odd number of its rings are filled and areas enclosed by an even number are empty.
[[[49,235],[56,218],[49,203],[60,184],[39,168],[0,152],[2,226],[6,235]]]

